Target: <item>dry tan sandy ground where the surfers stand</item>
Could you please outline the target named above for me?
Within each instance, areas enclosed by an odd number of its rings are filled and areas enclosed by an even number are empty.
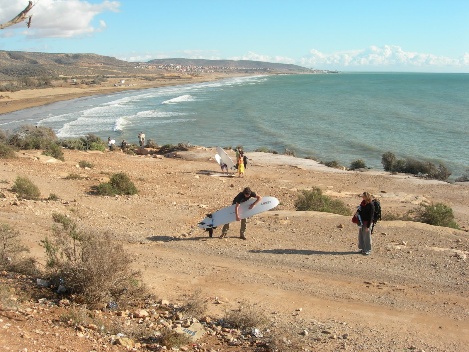
[[[220,170],[209,148],[162,159],[121,152],[64,153],[65,162],[23,155],[4,160],[0,168],[0,180],[8,181],[0,184],[6,196],[0,221],[18,229],[38,257],[44,257],[37,243],[51,233],[51,213],[69,214],[74,207],[90,226],[110,230],[135,255],[158,297],[178,302],[201,289],[205,297],[225,302],[210,305],[214,318],[239,301],[256,303],[271,319],[271,332],[299,342],[292,351],[407,351],[411,346],[426,352],[469,351],[468,185],[342,171],[266,153],[247,153],[253,166],[244,179],[211,177]],[[81,160],[95,167],[77,169]],[[93,193],[92,187],[108,177],[103,172],[118,171],[129,175],[138,195]],[[76,172],[89,180],[64,179]],[[60,200],[15,203],[10,190],[17,175],[29,176],[42,197],[56,193]],[[218,237],[221,229],[212,238],[198,229],[204,214],[230,205],[246,186],[280,200],[277,208],[250,218],[248,240],[238,237],[237,223],[223,239]],[[295,211],[298,190],[313,186],[350,209],[360,203],[361,192],[371,191],[384,216],[403,214],[422,201],[444,202],[454,209],[462,230],[381,221],[371,255],[363,256],[356,253],[358,230],[351,217]],[[324,337],[324,329],[339,338]],[[303,330],[309,334],[300,335]],[[340,338],[343,334],[347,340]],[[322,341],[315,340],[320,336]],[[71,350],[87,351],[84,345]]]

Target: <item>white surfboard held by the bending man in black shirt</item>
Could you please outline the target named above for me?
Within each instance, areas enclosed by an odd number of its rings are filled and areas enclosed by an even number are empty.
[[[238,209],[238,214],[241,219],[249,218],[250,216],[263,213],[267,210],[270,210],[279,205],[279,199],[274,197],[262,197],[261,201],[256,204],[252,209],[249,206],[254,203],[257,199],[251,198],[242,202]],[[216,226],[225,225],[229,222],[236,221],[236,215],[234,214],[234,207],[236,204],[233,204],[229,207],[220,209],[213,214],[207,215],[207,217],[199,222],[199,228],[201,229],[211,229]]]

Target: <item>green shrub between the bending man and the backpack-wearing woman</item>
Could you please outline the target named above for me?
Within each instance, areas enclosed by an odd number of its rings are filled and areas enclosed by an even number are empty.
[[[302,190],[298,194],[298,199],[295,201],[295,208],[298,211],[317,211],[340,215],[352,215],[352,211],[345,203],[339,199],[332,200],[331,198],[323,195],[321,189],[318,187],[313,187],[310,191]]]

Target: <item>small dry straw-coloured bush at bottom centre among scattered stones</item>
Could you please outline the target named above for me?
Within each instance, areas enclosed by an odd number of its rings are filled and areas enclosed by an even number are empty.
[[[263,329],[268,322],[263,310],[247,301],[241,301],[237,309],[225,310],[224,321],[239,330]]]

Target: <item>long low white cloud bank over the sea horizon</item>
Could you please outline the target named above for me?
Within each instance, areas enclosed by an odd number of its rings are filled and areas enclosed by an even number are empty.
[[[469,54],[460,59],[436,56],[416,52],[406,52],[401,46],[370,46],[364,50],[354,50],[334,54],[324,54],[311,49],[308,55],[300,58],[298,64],[306,67],[327,68],[343,67],[350,70],[385,70],[393,69],[431,69],[431,68],[462,68],[469,65]],[[466,67],[469,68],[469,67]]]

